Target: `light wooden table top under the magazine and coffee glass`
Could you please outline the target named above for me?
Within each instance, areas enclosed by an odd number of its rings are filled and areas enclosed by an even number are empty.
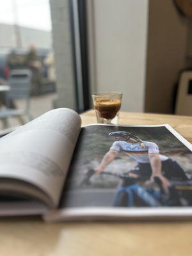
[[[96,122],[93,111],[83,125]],[[192,117],[121,113],[120,124],[170,124],[192,142]],[[192,255],[192,221],[47,224],[38,218],[0,220],[0,253],[15,256]]]

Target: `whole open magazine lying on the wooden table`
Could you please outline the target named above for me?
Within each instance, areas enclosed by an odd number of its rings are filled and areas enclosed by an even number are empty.
[[[191,144],[170,125],[86,125],[54,109],[0,139],[0,216],[192,216]]]

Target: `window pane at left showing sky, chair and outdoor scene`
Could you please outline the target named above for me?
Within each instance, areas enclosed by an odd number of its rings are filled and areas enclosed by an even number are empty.
[[[0,130],[23,124],[53,108],[56,72],[49,0],[6,0],[0,9]],[[28,88],[31,72],[31,88]],[[18,93],[17,84],[21,90]],[[8,87],[9,86],[9,87]],[[18,88],[18,87],[17,87]],[[24,92],[24,90],[28,92]],[[29,93],[29,98],[28,98]],[[30,104],[28,104],[30,100]],[[9,118],[7,108],[26,115]]]

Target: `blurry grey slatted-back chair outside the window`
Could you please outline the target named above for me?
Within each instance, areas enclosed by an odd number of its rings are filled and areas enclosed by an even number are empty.
[[[0,119],[4,122],[4,127],[7,128],[8,118],[13,116],[26,116],[32,120],[30,115],[30,89],[31,89],[32,72],[28,69],[11,70],[8,77],[8,84],[10,90],[7,93],[6,108],[0,109]],[[15,99],[25,99],[25,108],[16,109],[14,106]]]

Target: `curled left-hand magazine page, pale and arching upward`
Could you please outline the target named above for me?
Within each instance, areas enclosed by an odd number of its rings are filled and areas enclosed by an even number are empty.
[[[80,129],[80,116],[61,108],[4,136],[0,139],[1,180],[29,182],[44,191],[56,207]]]

